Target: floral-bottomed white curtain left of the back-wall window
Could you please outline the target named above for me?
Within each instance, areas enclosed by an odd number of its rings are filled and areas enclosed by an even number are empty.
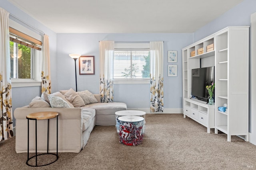
[[[114,41],[100,41],[100,102],[114,102]]]

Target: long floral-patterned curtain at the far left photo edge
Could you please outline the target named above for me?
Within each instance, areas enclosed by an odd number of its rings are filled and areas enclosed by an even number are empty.
[[[0,141],[13,136],[9,12],[0,8]]]

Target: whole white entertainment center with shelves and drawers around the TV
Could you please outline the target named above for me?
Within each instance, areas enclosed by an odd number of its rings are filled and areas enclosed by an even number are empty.
[[[192,99],[194,68],[215,66],[215,104]],[[249,27],[226,27],[182,49],[184,118],[248,141]],[[227,104],[226,112],[218,107]]]

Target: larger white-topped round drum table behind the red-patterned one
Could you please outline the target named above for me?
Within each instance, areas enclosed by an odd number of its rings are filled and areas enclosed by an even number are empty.
[[[119,133],[119,121],[118,121],[118,117],[120,116],[140,116],[144,118],[144,122],[143,122],[143,129],[142,129],[142,133],[144,134],[144,130],[145,130],[145,119],[146,119],[146,112],[145,111],[140,111],[140,110],[121,110],[121,111],[116,111],[116,131],[117,133]]]

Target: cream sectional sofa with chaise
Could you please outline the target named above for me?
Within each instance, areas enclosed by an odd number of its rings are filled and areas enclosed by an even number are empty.
[[[58,93],[60,96],[60,93]],[[58,96],[57,95],[57,96]],[[65,96],[65,95],[64,95]],[[85,147],[95,125],[116,125],[115,112],[126,110],[125,103],[100,103],[100,95],[94,94],[97,102],[81,107],[54,108],[46,103],[32,104],[14,110],[16,119],[16,152],[27,152],[28,120],[26,115],[41,111],[58,112],[58,152],[80,152]],[[67,97],[68,98],[68,97]],[[38,100],[42,98],[38,97]],[[76,102],[75,102],[76,103]],[[76,105],[76,104],[74,104]],[[47,120],[37,121],[38,152],[47,152]],[[56,152],[56,118],[50,119],[49,152]],[[29,150],[35,152],[35,121],[30,120]]]

